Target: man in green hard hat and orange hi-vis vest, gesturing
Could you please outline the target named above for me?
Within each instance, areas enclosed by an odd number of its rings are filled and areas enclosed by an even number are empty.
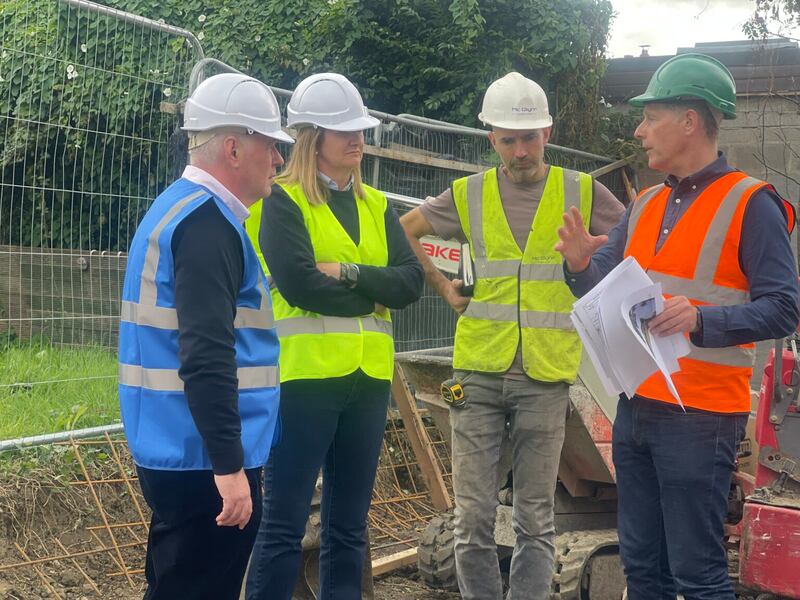
[[[660,374],[617,409],[628,598],[734,600],[723,545],[728,491],[750,411],[754,342],[788,335],[800,316],[794,210],[718,151],[736,89],[715,59],[669,59],[630,102],[644,107],[634,136],[666,180],[642,191],[607,237],[590,235],[576,211],[565,214],[556,245],[576,296],[636,258],[666,298],[650,330],[691,342],[673,375],[685,412]]]

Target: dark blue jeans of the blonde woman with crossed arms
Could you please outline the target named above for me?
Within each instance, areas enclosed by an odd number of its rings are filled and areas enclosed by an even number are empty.
[[[389,382],[358,370],[281,384],[282,439],[264,477],[264,511],[247,576],[247,600],[288,600],[320,467],[319,600],[360,600],[366,519]]]

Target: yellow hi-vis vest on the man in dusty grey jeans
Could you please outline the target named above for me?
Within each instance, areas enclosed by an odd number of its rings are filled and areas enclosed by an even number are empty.
[[[581,342],[569,313],[575,296],[564,282],[562,257],[553,250],[563,213],[592,212],[592,178],[550,167],[524,252],[503,212],[497,170],[453,182],[461,228],[475,261],[475,293],[456,326],[453,367],[505,373],[522,337],[525,373],[538,381],[572,383]]]

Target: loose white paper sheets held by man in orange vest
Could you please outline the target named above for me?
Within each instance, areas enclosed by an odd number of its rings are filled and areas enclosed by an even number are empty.
[[[653,283],[629,256],[572,306],[572,322],[586,353],[609,394],[629,398],[650,375],[661,371],[678,404],[683,406],[670,373],[689,354],[681,333],[650,334],[648,321],[664,310],[661,284]]]

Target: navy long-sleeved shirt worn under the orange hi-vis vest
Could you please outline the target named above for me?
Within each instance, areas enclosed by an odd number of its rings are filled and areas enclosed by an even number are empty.
[[[735,170],[720,153],[713,163],[680,181],[673,175],[667,177],[665,183],[670,195],[657,250],[703,190]],[[577,297],[592,289],[622,261],[632,206],[628,206],[619,223],[609,232],[608,242],[592,255],[584,271],[571,273],[564,265],[567,285]],[[750,302],[734,306],[698,306],[702,327],[691,334],[695,346],[723,348],[776,339],[795,330],[800,318],[800,290],[786,222],[783,201],[774,191],[762,189],[750,199],[739,244],[739,265],[750,284]]]

